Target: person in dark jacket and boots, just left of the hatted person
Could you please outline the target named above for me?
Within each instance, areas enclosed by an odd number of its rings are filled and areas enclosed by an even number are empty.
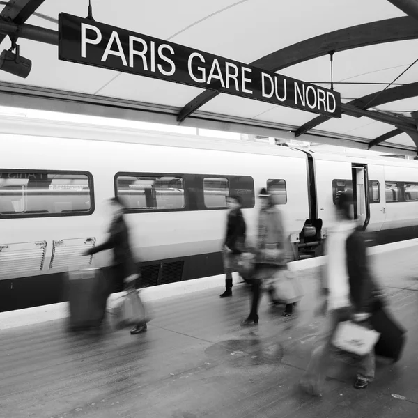
[[[220,297],[232,296],[232,270],[245,248],[246,225],[238,196],[229,196],[226,206],[230,209],[226,220],[226,234],[223,245],[224,269],[226,273],[225,291]]]

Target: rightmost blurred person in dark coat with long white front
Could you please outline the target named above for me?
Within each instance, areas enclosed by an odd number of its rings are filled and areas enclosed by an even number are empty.
[[[328,260],[321,278],[322,295],[326,297],[323,311],[326,312],[327,327],[300,382],[301,388],[309,394],[320,395],[322,391],[332,341],[339,323],[346,320],[364,322],[378,302],[378,288],[369,270],[364,236],[350,217],[352,204],[350,194],[345,192],[337,196],[337,222],[327,237]],[[354,387],[364,389],[374,375],[375,357],[372,349],[359,362]]]

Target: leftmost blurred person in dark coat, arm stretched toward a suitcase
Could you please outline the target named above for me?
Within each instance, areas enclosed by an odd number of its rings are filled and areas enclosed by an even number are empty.
[[[102,244],[89,249],[86,255],[90,256],[106,249],[113,249],[111,276],[114,281],[114,290],[118,292],[123,291],[125,286],[135,286],[138,274],[130,248],[129,231],[123,216],[125,206],[117,196],[110,199],[110,206],[113,219],[109,228],[109,237]],[[139,334],[146,328],[146,323],[137,324],[131,330],[131,334]]]

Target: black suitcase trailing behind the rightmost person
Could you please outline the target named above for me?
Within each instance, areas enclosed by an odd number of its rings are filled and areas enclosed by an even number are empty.
[[[405,345],[405,329],[391,318],[384,308],[377,309],[371,316],[371,325],[380,332],[375,354],[397,362]]]

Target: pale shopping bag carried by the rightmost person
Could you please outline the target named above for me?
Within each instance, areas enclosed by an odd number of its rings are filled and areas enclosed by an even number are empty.
[[[366,355],[371,353],[379,336],[380,333],[376,330],[369,330],[362,325],[345,321],[339,323],[332,345],[348,353]]]

